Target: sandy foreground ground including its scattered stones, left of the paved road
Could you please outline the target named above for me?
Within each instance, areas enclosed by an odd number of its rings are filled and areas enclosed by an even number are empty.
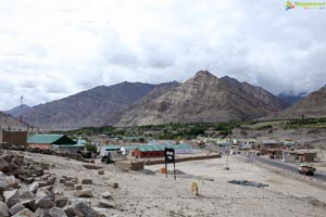
[[[163,165],[146,166],[142,171],[122,171],[114,165],[101,164],[99,159],[96,164],[88,164],[90,166],[86,168],[83,162],[59,156],[32,153],[24,153],[24,156],[25,161],[33,159],[49,165],[49,170],[43,169],[43,175],[35,178],[37,181],[55,178],[50,189],[42,190],[47,187],[39,187],[36,191],[32,189],[35,193],[30,200],[45,197],[45,190],[54,195],[50,197],[54,203],[54,205],[49,203],[51,208],[41,207],[46,213],[43,216],[58,216],[57,214],[62,210],[64,214],[61,214],[66,216],[326,215],[325,189],[285,178],[244,163],[236,156],[229,157],[229,170],[224,169],[226,163],[224,157],[178,163],[176,180],[172,174],[167,178],[160,174]],[[168,170],[171,168],[172,165]],[[238,186],[229,183],[230,180],[250,180],[268,187]],[[191,192],[192,182],[197,183],[199,195]],[[18,181],[18,186],[20,189],[30,190],[33,184]],[[4,191],[1,191],[4,194]],[[1,207],[8,205],[12,204],[8,204],[8,197],[4,196],[3,202],[0,202],[0,209],[3,210]],[[27,210],[30,210],[30,206],[24,203],[23,206],[21,208],[27,207]],[[30,212],[35,216],[37,209]]]

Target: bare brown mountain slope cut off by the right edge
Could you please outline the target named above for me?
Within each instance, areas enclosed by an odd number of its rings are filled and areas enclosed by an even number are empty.
[[[326,117],[326,87],[314,91],[299,101],[297,104],[267,116],[266,119],[294,119],[304,117]]]

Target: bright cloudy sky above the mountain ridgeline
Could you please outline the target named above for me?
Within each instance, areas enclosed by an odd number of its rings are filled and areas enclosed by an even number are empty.
[[[199,69],[279,92],[326,84],[326,10],[286,0],[0,0],[0,110]]]

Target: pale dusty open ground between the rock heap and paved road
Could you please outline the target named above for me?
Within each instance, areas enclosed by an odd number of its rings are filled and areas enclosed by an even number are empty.
[[[55,164],[50,171],[61,176],[91,178],[92,199],[84,199],[97,207],[103,201],[100,194],[110,191],[115,208],[100,209],[108,216],[326,216],[326,192],[304,182],[285,178],[255,165],[243,163],[236,156],[229,158],[230,170],[224,170],[225,158],[178,163],[176,168],[184,175],[165,178],[159,170],[163,165],[147,166],[155,175],[121,171],[113,165],[102,165],[105,174],[98,175],[80,162],[40,154],[26,154],[35,161]],[[170,167],[172,168],[172,166]],[[209,179],[214,179],[209,180]],[[255,188],[228,183],[234,179],[248,179],[267,183]],[[199,196],[191,193],[191,182],[199,187]],[[111,184],[118,182],[120,188]],[[73,190],[57,183],[71,201],[76,201]]]

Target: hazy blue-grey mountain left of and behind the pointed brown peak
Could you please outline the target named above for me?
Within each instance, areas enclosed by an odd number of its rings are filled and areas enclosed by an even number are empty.
[[[126,81],[109,87],[100,86],[61,100],[36,105],[22,115],[30,125],[48,129],[113,125],[130,104],[155,87],[155,85]]]

